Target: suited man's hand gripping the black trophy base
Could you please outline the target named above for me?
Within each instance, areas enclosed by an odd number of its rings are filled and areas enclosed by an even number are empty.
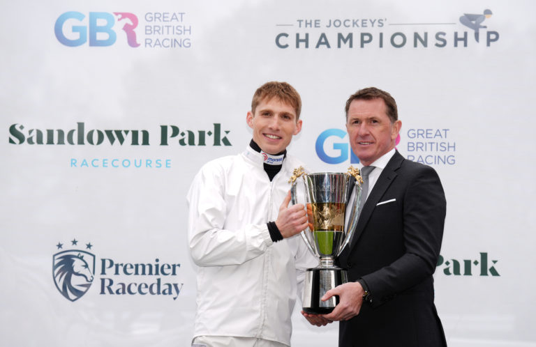
[[[348,319],[357,316],[363,304],[364,293],[365,291],[359,282],[348,282],[327,291],[320,298],[322,301],[338,295],[339,302],[332,313],[325,314],[324,318],[328,321],[348,321]]]

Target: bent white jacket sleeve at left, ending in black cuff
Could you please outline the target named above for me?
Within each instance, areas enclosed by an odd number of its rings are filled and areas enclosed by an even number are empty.
[[[265,252],[272,244],[266,224],[223,229],[228,215],[225,172],[217,165],[203,167],[188,192],[188,246],[199,266],[239,265]]]

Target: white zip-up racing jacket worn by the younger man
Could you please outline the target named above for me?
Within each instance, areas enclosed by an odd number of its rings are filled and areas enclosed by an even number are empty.
[[[270,182],[262,154],[244,153],[205,164],[188,192],[188,245],[198,268],[194,337],[257,337],[290,346],[290,317],[301,298],[303,270],[318,265],[298,234],[272,242],[267,222],[290,190],[285,157]]]

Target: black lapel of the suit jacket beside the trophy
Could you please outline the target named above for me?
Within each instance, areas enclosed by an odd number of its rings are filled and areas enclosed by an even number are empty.
[[[389,162],[387,163],[385,169],[382,170],[382,173],[374,184],[371,193],[368,194],[368,198],[366,198],[365,205],[363,206],[363,210],[361,211],[361,215],[359,216],[359,220],[357,221],[354,236],[352,236],[350,252],[352,248],[355,247],[355,245],[357,244],[357,240],[359,240],[359,237],[363,233],[365,226],[368,223],[368,219],[371,218],[371,215],[374,212],[376,204],[380,202],[380,199],[382,199],[382,196],[385,194],[385,191],[394,181],[394,178],[396,178],[396,170],[399,169],[403,160],[404,157],[398,151],[396,151],[391,160],[389,160]]]

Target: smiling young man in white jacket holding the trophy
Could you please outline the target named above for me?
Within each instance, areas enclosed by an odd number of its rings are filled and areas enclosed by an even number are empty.
[[[204,164],[188,192],[188,245],[198,268],[193,346],[290,346],[304,270],[318,265],[297,235],[303,205],[289,206],[287,155],[301,130],[301,99],[285,82],[253,95],[253,139],[239,155]]]

